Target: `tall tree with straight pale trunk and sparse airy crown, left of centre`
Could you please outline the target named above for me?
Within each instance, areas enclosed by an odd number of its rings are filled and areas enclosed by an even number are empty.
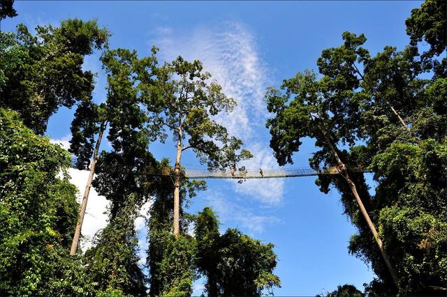
[[[242,141],[230,137],[226,128],[212,119],[221,111],[230,112],[236,102],[222,93],[219,84],[210,82],[211,75],[203,72],[200,61],[190,63],[179,56],[159,68],[157,75],[159,89],[152,93],[147,109],[154,113],[152,122],[158,125],[161,140],[166,139],[164,131],[168,129],[176,143],[173,225],[178,236],[182,153],[191,148],[209,169],[235,168],[240,160],[251,158],[251,153],[237,153]]]

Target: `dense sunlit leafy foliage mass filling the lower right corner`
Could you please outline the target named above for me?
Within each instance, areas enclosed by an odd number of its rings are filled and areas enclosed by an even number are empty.
[[[380,233],[390,257],[400,259],[395,265],[402,291],[436,294],[430,287],[447,281],[447,140],[393,143],[371,167],[380,181],[376,199],[386,206]]]

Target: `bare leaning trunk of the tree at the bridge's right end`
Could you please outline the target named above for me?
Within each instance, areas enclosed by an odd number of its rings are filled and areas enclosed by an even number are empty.
[[[376,227],[374,227],[374,224],[372,223],[371,218],[369,218],[366,208],[363,205],[362,199],[360,199],[360,195],[358,195],[356,184],[351,180],[351,177],[349,176],[349,174],[346,170],[346,165],[344,165],[342,160],[339,158],[337,151],[335,151],[335,148],[334,148],[334,146],[332,146],[332,143],[330,142],[328,137],[326,137],[325,140],[328,143],[328,145],[330,146],[330,150],[332,151],[332,153],[335,157],[335,160],[337,160],[337,163],[338,163],[337,168],[339,169],[340,174],[342,174],[342,176],[344,176],[344,178],[346,178],[346,181],[349,184],[349,188],[351,188],[352,194],[354,195],[354,197],[356,197],[356,201],[358,203],[358,206],[360,207],[360,211],[362,212],[363,218],[365,218],[365,220],[368,224],[368,227],[371,230],[372,235],[374,236],[374,240],[376,241],[377,245],[379,246],[379,250],[382,254],[383,261],[385,261],[388,271],[390,271],[390,275],[391,275],[391,277],[393,277],[393,281],[395,282],[396,287],[397,287],[399,284],[399,278],[397,277],[396,272],[394,271],[393,267],[390,264],[390,260],[388,259],[388,254],[386,253],[385,247],[383,246],[383,243],[382,243],[381,239],[379,238],[379,234],[377,233]]]

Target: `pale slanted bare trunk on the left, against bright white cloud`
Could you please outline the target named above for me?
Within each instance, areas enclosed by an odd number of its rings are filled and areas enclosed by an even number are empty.
[[[76,224],[75,234],[73,235],[73,241],[71,243],[70,254],[73,255],[78,250],[79,237],[81,234],[82,222],[84,222],[85,209],[87,208],[87,200],[89,199],[89,192],[91,188],[91,182],[93,181],[93,176],[95,174],[96,162],[98,162],[98,151],[101,145],[101,139],[103,138],[103,133],[105,130],[105,123],[101,123],[101,128],[98,134],[98,140],[96,140],[96,146],[93,151],[93,159],[90,162],[90,174],[87,180],[87,185],[85,185],[84,196],[82,197],[82,204],[79,211],[78,223]]]

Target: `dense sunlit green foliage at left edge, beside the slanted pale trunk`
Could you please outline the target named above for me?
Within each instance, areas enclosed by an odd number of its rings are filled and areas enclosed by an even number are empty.
[[[78,211],[70,162],[17,113],[0,109],[0,295],[82,295],[77,286],[88,281],[72,283],[82,272],[61,272],[73,267],[66,257]]]

